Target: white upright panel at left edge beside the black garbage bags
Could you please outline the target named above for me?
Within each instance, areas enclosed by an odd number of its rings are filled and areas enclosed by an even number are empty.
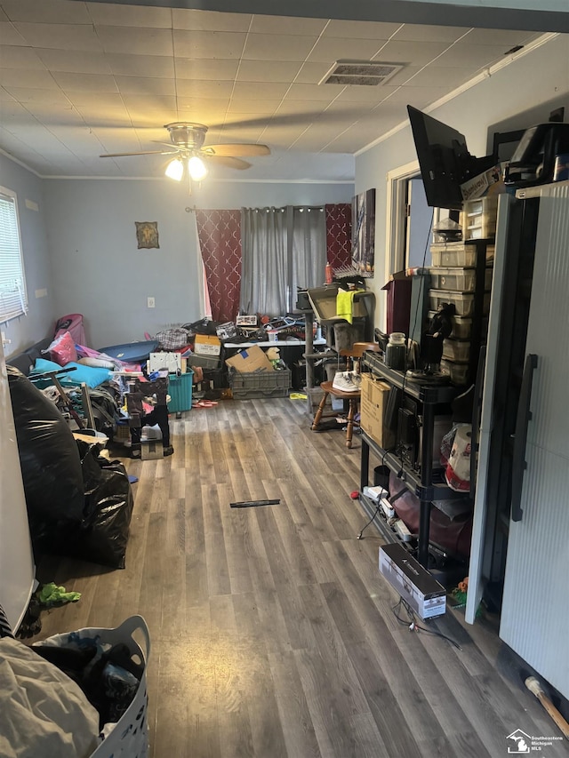
[[[20,456],[0,340],[0,603],[12,630],[20,626],[34,584],[34,559]]]

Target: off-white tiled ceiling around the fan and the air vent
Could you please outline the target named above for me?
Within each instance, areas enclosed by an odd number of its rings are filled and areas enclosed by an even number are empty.
[[[354,154],[541,32],[293,18],[78,0],[0,0],[0,149],[42,177],[160,177],[164,124],[261,142],[238,180],[353,180]],[[318,84],[337,60],[387,84]]]

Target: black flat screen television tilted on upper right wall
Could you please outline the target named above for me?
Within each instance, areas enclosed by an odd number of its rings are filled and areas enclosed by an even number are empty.
[[[461,184],[493,168],[495,156],[471,156],[461,132],[407,106],[421,177],[432,208],[462,208]]]

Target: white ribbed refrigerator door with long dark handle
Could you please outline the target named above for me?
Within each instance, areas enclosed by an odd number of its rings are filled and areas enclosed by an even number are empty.
[[[500,636],[569,698],[569,187],[550,193],[540,201],[526,343],[537,367]]]

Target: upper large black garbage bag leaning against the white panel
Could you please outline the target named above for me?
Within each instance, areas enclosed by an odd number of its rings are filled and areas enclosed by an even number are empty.
[[[84,494],[81,459],[60,410],[13,366],[6,366],[32,539],[44,518],[79,523]]]

